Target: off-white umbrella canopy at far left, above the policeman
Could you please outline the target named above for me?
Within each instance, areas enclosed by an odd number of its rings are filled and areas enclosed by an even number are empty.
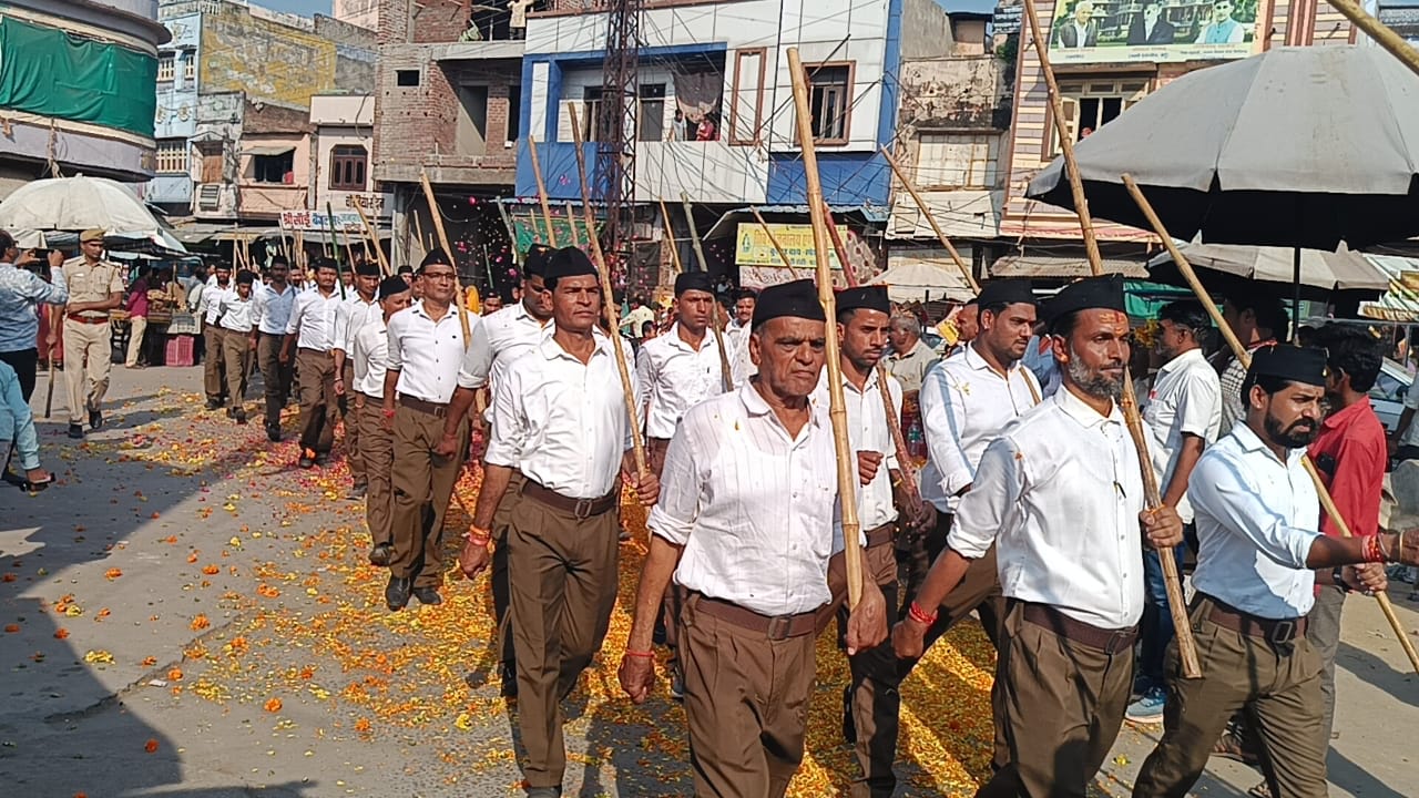
[[[105,177],[51,177],[16,189],[0,203],[0,229],[150,233],[160,229],[143,200]]]

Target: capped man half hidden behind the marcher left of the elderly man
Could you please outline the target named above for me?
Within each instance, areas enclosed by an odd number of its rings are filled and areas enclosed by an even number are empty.
[[[448,402],[448,419],[444,420],[443,450],[458,446],[457,419],[461,419],[477,399],[480,390],[497,386],[508,366],[519,356],[536,349],[542,338],[551,334],[552,290],[543,280],[546,266],[552,258],[551,247],[534,244],[522,261],[522,300],[511,307],[488,315],[473,331],[473,344],[458,368],[458,389]],[[492,423],[492,405],[484,413],[484,422]],[[499,670],[502,693],[515,696],[518,690],[517,655],[512,646],[512,619],[508,613],[508,527],[512,508],[522,494],[522,473],[512,471],[508,488],[498,503],[492,517],[492,616],[498,628]]]

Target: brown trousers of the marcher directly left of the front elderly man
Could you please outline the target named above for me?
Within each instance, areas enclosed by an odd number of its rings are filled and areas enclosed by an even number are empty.
[[[614,510],[576,518],[524,496],[508,530],[518,726],[529,787],[561,787],[566,771],[562,699],[602,647],[616,606],[620,559]]]

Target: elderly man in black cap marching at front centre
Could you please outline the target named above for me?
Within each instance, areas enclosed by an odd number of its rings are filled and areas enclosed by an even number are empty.
[[[833,432],[810,399],[824,341],[812,280],[765,288],[749,337],[758,375],[691,408],[666,454],[620,683],[636,703],[648,696],[654,621],[674,576],[690,596],[680,649],[697,795],[780,797],[803,760],[837,503]],[[863,582],[850,656],[885,633],[881,591]]]

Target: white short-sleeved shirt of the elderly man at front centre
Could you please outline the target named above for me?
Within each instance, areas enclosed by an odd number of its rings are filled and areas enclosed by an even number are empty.
[[[683,545],[675,582],[762,615],[823,606],[837,457],[827,410],[790,436],[752,383],[695,405],[646,525]]]

